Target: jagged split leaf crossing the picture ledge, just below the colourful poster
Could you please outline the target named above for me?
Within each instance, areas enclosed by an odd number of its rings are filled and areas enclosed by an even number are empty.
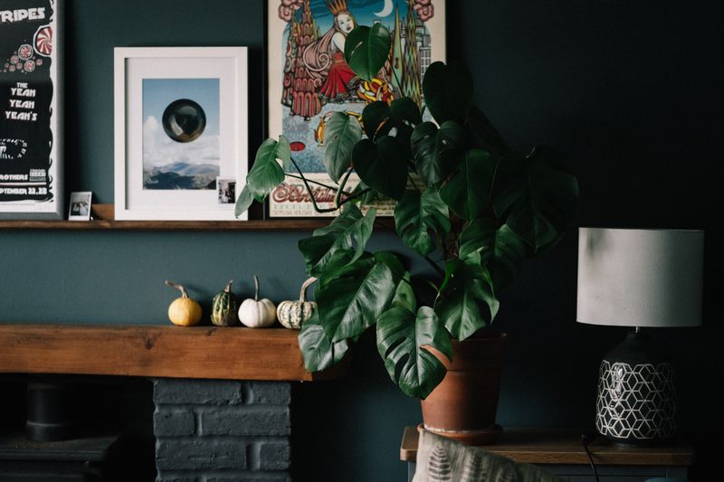
[[[357,205],[348,203],[329,226],[316,230],[310,238],[300,240],[299,249],[307,274],[319,277],[338,250],[352,249],[355,245],[355,255],[350,261],[359,259],[372,235],[375,217],[375,208],[369,208],[363,216]]]

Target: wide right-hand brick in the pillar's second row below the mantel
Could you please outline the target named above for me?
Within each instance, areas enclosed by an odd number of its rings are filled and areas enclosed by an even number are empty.
[[[289,435],[291,424],[289,408],[273,407],[267,410],[244,410],[245,407],[228,407],[203,411],[202,435]],[[253,407],[256,408],[256,407]]]

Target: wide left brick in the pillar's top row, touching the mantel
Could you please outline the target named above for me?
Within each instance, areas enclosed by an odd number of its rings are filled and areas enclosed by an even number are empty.
[[[243,402],[242,384],[233,380],[157,378],[153,383],[153,401],[157,404],[237,404]]]

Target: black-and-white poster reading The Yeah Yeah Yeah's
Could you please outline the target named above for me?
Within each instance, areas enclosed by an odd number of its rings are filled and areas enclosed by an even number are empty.
[[[0,218],[62,219],[58,3],[0,0]]]

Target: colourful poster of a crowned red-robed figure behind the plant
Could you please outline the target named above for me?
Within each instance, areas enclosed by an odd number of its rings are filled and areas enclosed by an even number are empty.
[[[332,112],[361,117],[375,100],[408,97],[423,107],[422,78],[433,61],[445,60],[444,0],[270,0],[268,11],[269,136],[290,140],[291,155],[312,181],[320,207],[334,192],[323,164],[324,126]],[[347,35],[357,25],[381,23],[392,49],[372,81],[361,80],[344,59]],[[293,171],[289,172],[293,174]],[[354,175],[348,187],[358,183]],[[392,204],[377,206],[391,215]],[[269,198],[271,217],[313,217],[302,181],[287,176]]]

